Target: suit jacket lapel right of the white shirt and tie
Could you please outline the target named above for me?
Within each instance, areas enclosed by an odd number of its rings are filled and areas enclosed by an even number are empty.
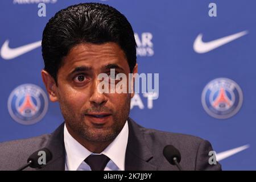
[[[144,139],[143,129],[131,118],[128,119],[129,137],[125,156],[125,170],[155,171],[151,163],[153,155],[148,150]]]

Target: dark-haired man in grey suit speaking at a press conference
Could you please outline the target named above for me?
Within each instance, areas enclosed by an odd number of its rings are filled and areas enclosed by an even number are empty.
[[[168,144],[180,151],[185,170],[221,169],[209,164],[206,140],[145,129],[129,118],[133,83],[121,85],[115,76],[138,72],[136,43],[113,7],[82,3],[59,11],[44,28],[42,52],[43,81],[65,122],[51,135],[1,143],[1,170],[18,169],[44,147],[52,159],[37,170],[177,170],[163,156]],[[111,92],[113,85],[127,92]]]

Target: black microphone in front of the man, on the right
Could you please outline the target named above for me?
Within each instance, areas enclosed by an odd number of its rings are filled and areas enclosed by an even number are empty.
[[[167,145],[164,147],[163,149],[163,155],[164,157],[168,160],[168,162],[172,165],[176,165],[177,168],[180,171],[183,171],[183,169],[180,166],[180,160],[181,160],[181,155],[179,150],[177,150],[177,148],[175,148],[174,146]]]

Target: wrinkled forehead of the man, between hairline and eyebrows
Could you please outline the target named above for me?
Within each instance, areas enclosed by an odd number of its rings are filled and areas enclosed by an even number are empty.
[[[79,44],[64,57],[63,67],[73,69],[129,69],[126,56],[116,43]]]

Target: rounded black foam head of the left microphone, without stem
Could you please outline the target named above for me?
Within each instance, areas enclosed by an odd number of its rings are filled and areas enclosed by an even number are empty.
[[[27,162],[31,161],[30,167],[32,168],[41,168],[43,165],[46,165],[51,159],[51,151],[49,151],[48,148],[42,148],[31,154],[30,157],[27,159]]]

